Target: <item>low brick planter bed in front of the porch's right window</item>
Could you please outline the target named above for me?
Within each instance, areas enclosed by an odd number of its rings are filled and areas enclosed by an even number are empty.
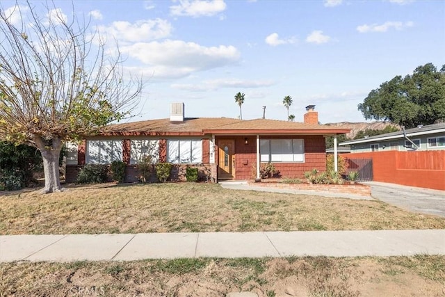
[[[261,182],[249,180],[252,186],[266,186],[269,188],[292,188],[302,191],[324,191],[330,193],[347,193],[362,196],[371,196],[371,186],[365,184],[284,184],[280,179],[262,179]]]

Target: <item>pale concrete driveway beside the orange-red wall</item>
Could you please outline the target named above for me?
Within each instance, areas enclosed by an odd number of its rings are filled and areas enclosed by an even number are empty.
[[[364,182],[371,186],[373,198],[403,209],[445,217],[445,191],[384,182]]]

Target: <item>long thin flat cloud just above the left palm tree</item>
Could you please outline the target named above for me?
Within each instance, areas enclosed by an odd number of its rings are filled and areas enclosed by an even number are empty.
[[[220,88],[262,88],[272,86],[274,81],[246,81],[242,79],[213,79],[202,81],[199,84],[172,84],[172,88],[179,90],[191,90],[194,92],[206,92],[210,90],[218,90]]]

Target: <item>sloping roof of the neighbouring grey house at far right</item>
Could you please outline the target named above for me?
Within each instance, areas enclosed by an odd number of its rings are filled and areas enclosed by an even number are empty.
[[[405,134],[407,137],[411,136],[423,136],[428,134],[445,133],[445,122],[440,124],[418,126],[412,129],[405,129]],[[405,138],[402,131],[391,132],[387,134],[381,134],[376,136],[370,136],[366,138],[355,139],[353,141],[343,141],[339,145],[355,145],[358,143],[373,143],[376,141],[389,141],[392,139]]]

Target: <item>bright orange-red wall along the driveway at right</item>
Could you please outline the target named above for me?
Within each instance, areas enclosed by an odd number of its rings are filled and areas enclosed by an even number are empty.
[[[362,152],[351,159],[373,159],[373,180],[445,190],[445,150]]]

